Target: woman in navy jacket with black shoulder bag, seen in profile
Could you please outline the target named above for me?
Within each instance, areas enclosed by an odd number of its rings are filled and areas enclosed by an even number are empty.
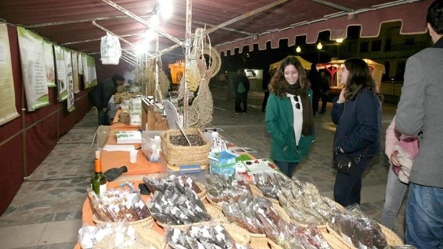
[[[350,174],[337,172],[334,185],[335,201],[343,207],[360,205],[361,176],[374,155],[380,152],[381,95],[369,66],[362,59],[348,59],[340,70],[345,85],[333,100],[332,121],[334,158],[345,153],[348,158],[361,159]]]

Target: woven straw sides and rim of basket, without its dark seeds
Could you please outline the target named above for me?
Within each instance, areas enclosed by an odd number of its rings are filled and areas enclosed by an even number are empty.
[[[191,164],[208,164],[208,153],[211,149],[211,142],[207,140],[204,134],[195,128],[184,128],[186,135],[199,134],[206,143],[201,146],[178,146],[173,145],[170,141],[170,136],[181,135],[180,130],[166,130],[160,134],[162,138],[162,152],[165,155],[168,164],[172,166],[177,165],[191,165]]]

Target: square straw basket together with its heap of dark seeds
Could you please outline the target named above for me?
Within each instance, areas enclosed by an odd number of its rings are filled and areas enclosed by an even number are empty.
[[[207,156],[211,149],[211,142],[198,129],[184,128],[183,131],[186,137],[180,130],[166,130],[160,135],[162,153],[168,164],[174,166],[208,164]]]

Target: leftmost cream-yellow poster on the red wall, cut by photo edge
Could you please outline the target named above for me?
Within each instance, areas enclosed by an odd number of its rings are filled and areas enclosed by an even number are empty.
[[[14,79],[12,77],[11,50],[9,49],[8,27],[0,24],[0,125],[17,118]]]

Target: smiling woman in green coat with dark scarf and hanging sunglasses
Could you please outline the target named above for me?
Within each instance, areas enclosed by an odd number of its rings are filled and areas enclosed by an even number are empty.
[[[271,135],[271,157],[281,172],[292,177],[314,140],[312,90],[297,58],[281,62],[269,92],[265,121]]]

